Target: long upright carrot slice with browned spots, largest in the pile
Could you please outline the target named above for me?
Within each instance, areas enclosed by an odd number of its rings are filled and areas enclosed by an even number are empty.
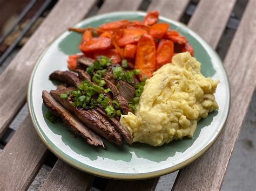
[[[156,68],[156,45],[149,34],[144,34],[139,39],[134,68],[140,69],[140,79],[144,75],[149,79]]]

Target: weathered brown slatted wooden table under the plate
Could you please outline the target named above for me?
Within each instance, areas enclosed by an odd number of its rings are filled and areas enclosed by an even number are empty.
[[[4,135],[17,112],[24,105],[33,66],[45,46],[60,32],[86,18],[90,10],[105,13],[137,10],[142,0],[105,0],[100,9],[95,0],[62,0],[0,75],[0,137]],[[152,0],[147,11],[179,20],[188,0]],[[204,0],[197,5],[188,27],[216,48],[224,32],[235,0]],[[217,142],[191,165],[181,169],[173,190],[219,190],[235,141],[255,88],[256,7],[249,0],[224,60],[231,83],[231,110],[225,129]],[[221,43],[221,42],[220,42]],[[30,117],[21,126],[0,154],[0,190],[28,189],[48,154],[33,129]],[[78,171],[58,160],[42,190],[88,190],[95,176]],[[143,181],[110,180],[106,190],[154,190],[158,178]]]

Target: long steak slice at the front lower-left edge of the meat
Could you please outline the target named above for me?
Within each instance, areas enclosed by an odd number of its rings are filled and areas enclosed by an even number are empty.
[[[95,146],[103,146],[103,141],[98,135],[89,130],[78,119],[73,117],[65,108],[62,107],[47,91],[43,91],[43,102],[53,114],[61,117],[65,126],[67,126],[76,135],[82,136],[86,139],[87,143]]]

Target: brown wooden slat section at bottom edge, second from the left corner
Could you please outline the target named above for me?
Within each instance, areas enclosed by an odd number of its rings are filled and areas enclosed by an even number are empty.
[[[90,190],[94,179],[58,160],[41,190]]]

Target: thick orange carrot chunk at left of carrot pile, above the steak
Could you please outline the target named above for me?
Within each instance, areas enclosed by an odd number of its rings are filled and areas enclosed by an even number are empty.
[[[101,51],[112,47],[111,39],[106,37],[96,37],[79,45],[83,53]]]

